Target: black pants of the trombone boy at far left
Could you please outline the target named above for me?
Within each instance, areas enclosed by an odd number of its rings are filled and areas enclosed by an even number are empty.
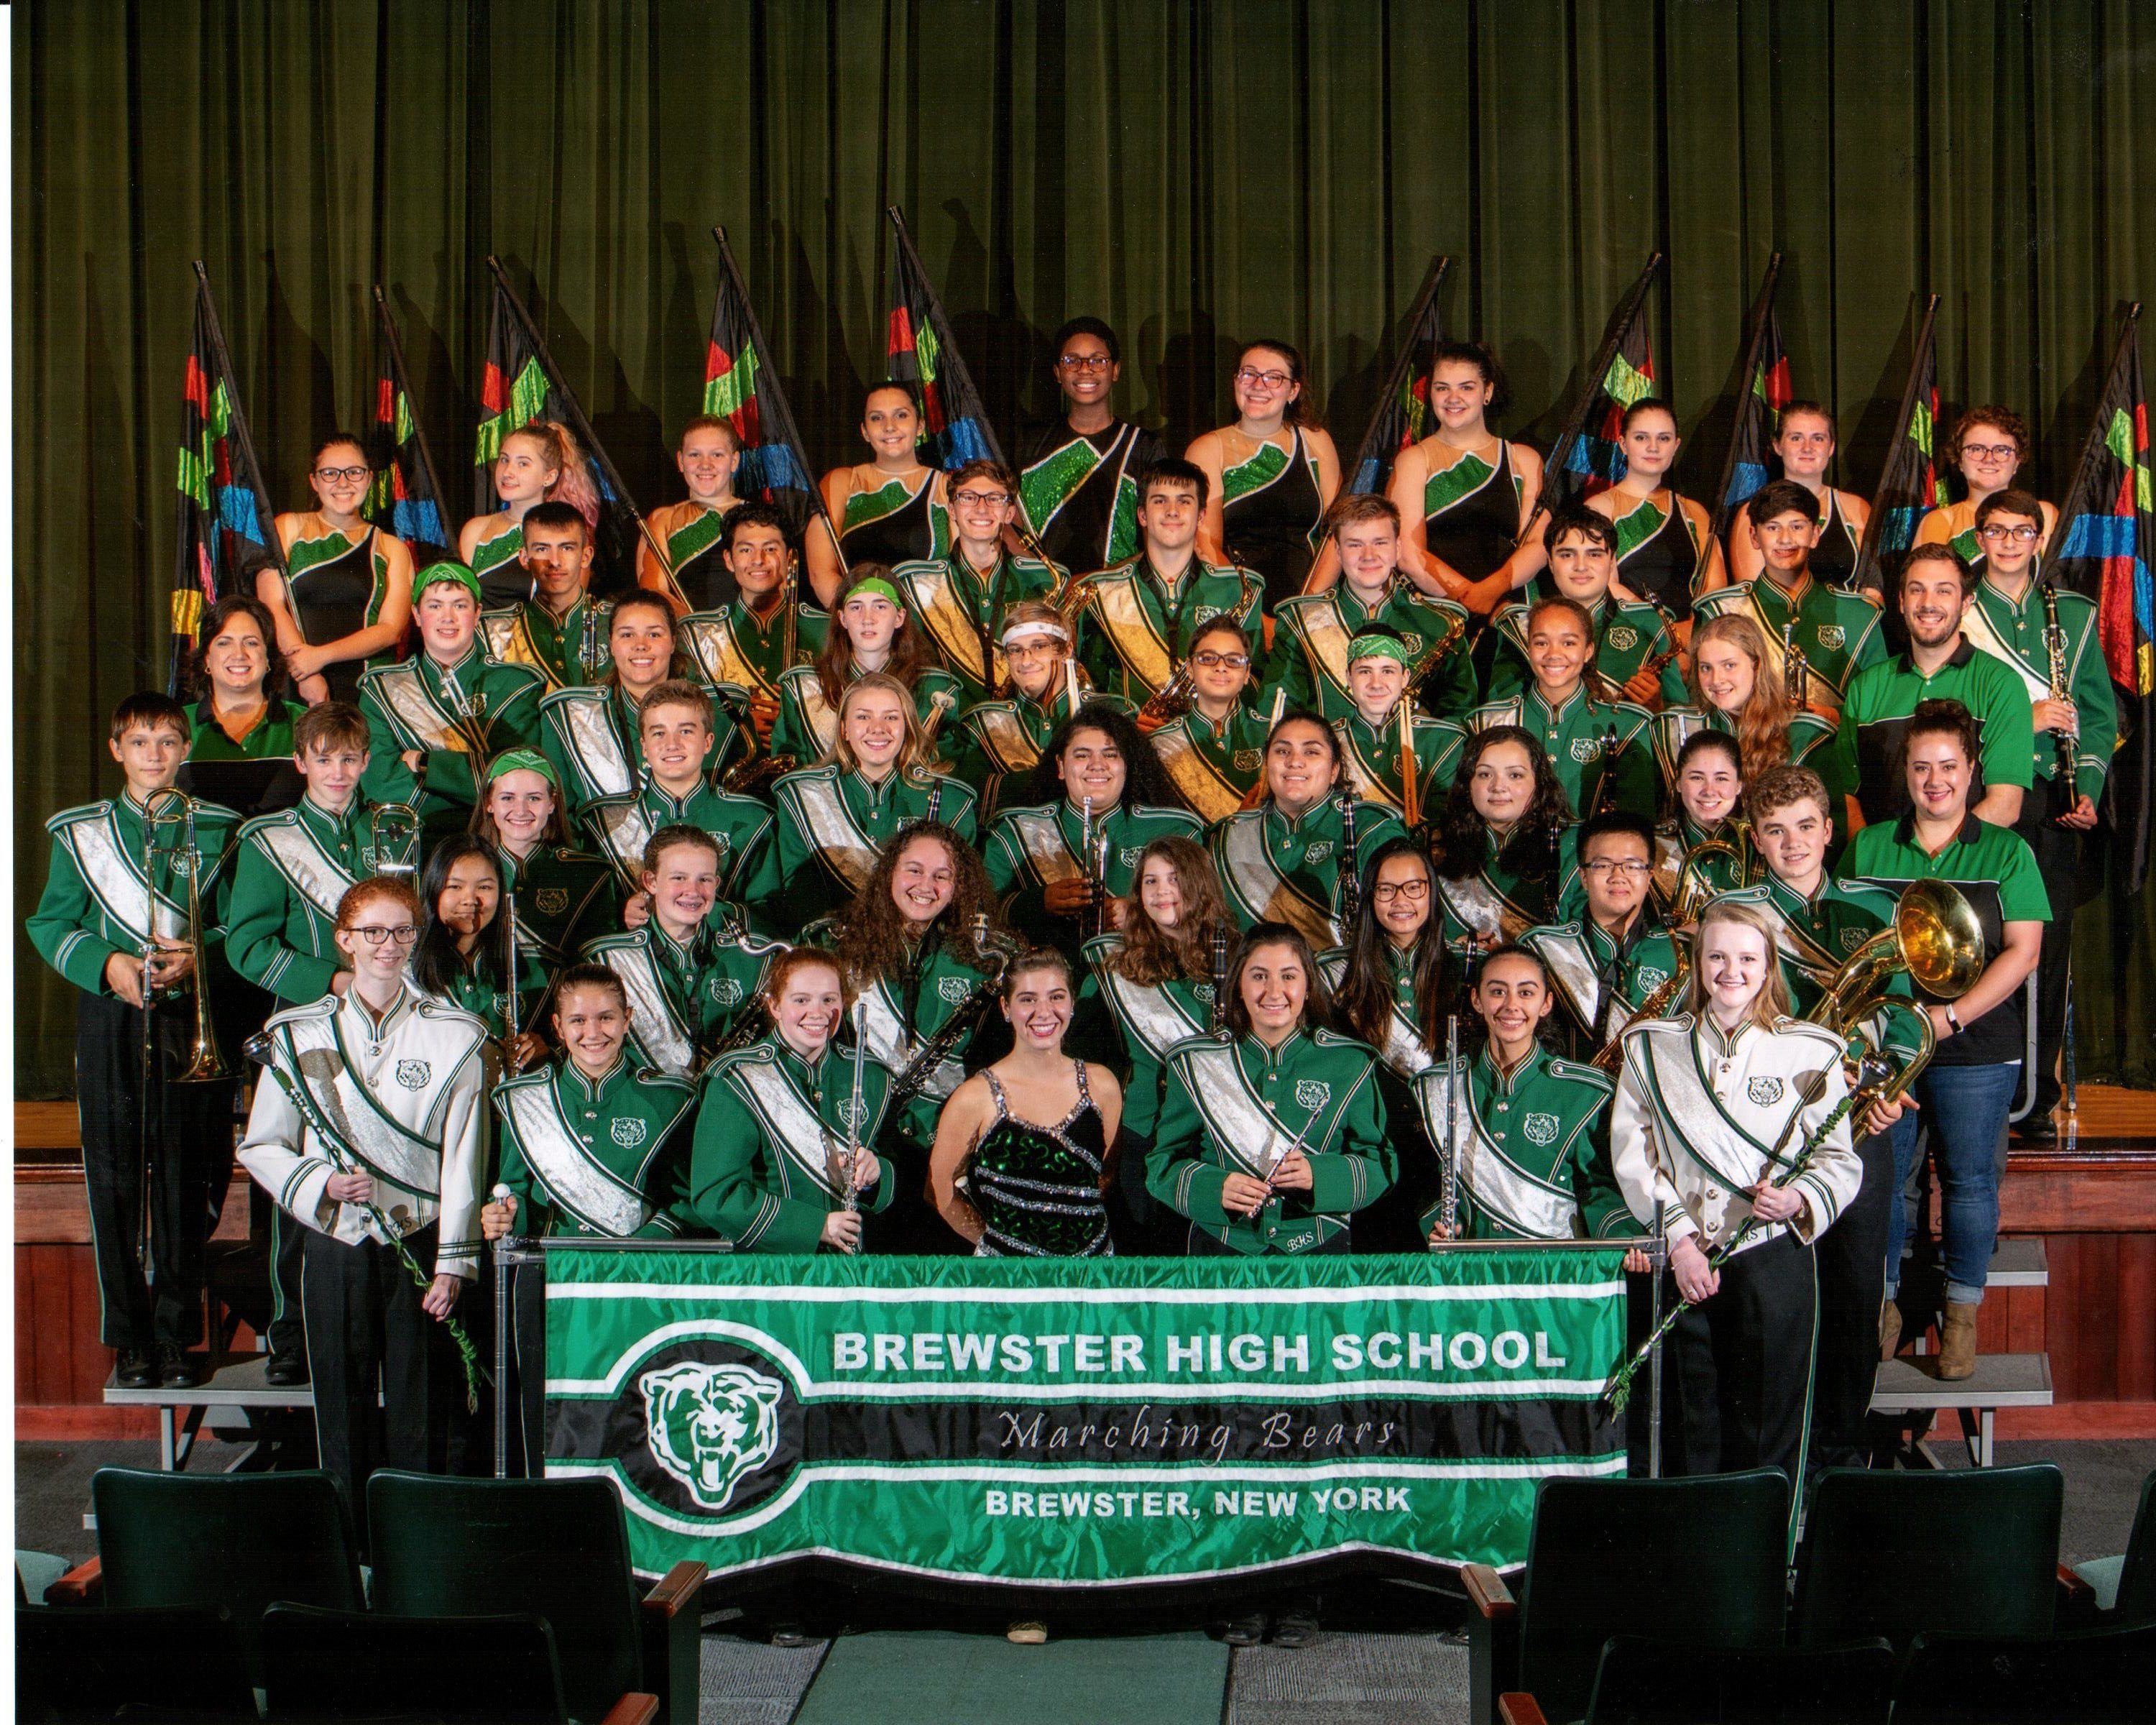
[[[75,1100],[82,1110],[82,1175],[97,1255],[99,1339],[106,1348],[203,1339],[203,1248],[213,1182],[233,1158],[233,1085],[175,1085],[188,1065],[194,1005],[151,1009],[149,1264],[142,1225],[142,1011],[106,994],[75,1005]]]

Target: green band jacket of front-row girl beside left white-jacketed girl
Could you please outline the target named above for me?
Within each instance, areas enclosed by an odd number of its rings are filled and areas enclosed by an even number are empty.
[[[666,1240],[690,1231],[681,1184],[694,1108],[688,1080],[627,1054],[597,1080],[556,1054],[496,1085],[498,1179],[517,1199],[517,1233]]]

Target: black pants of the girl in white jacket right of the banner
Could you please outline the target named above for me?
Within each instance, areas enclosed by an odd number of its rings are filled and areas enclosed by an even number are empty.
[[[1684,1471],[1781,1468],[1800,1486],[1818,1317],[1811,1246],[1781,1233],[1720,1274],[1714,1296],[1671,1330]]]

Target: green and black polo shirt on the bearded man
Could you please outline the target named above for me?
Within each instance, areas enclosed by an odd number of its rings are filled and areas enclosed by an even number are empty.
[[[1895,653],[1856,673],[1850,684],[1835,731],[1835,772],[1843,785],[1856,787],[1856,806],[1867,822],[1891,822],[1908,809],[1904,740],[1919,701],[1960,701],[1977,722],[1971,804],[1984,796],[1986,785],[2029,789],[2035,759],[2029,692],[2005,664],[1979,653],[1962,636],[1932,675],[1917,671],[1908,653]]]

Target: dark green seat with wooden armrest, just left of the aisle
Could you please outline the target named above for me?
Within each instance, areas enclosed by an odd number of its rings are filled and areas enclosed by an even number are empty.
[[[604,1479],[384,1471],[367,1481],[367,1527],[375,1611],[533,1613],[554,1630],[578,1719],[623,1690],[653,1690],[668,1725],[694,1725],[705,1568],[677,1563],[638,1587],[621,1499]]]

